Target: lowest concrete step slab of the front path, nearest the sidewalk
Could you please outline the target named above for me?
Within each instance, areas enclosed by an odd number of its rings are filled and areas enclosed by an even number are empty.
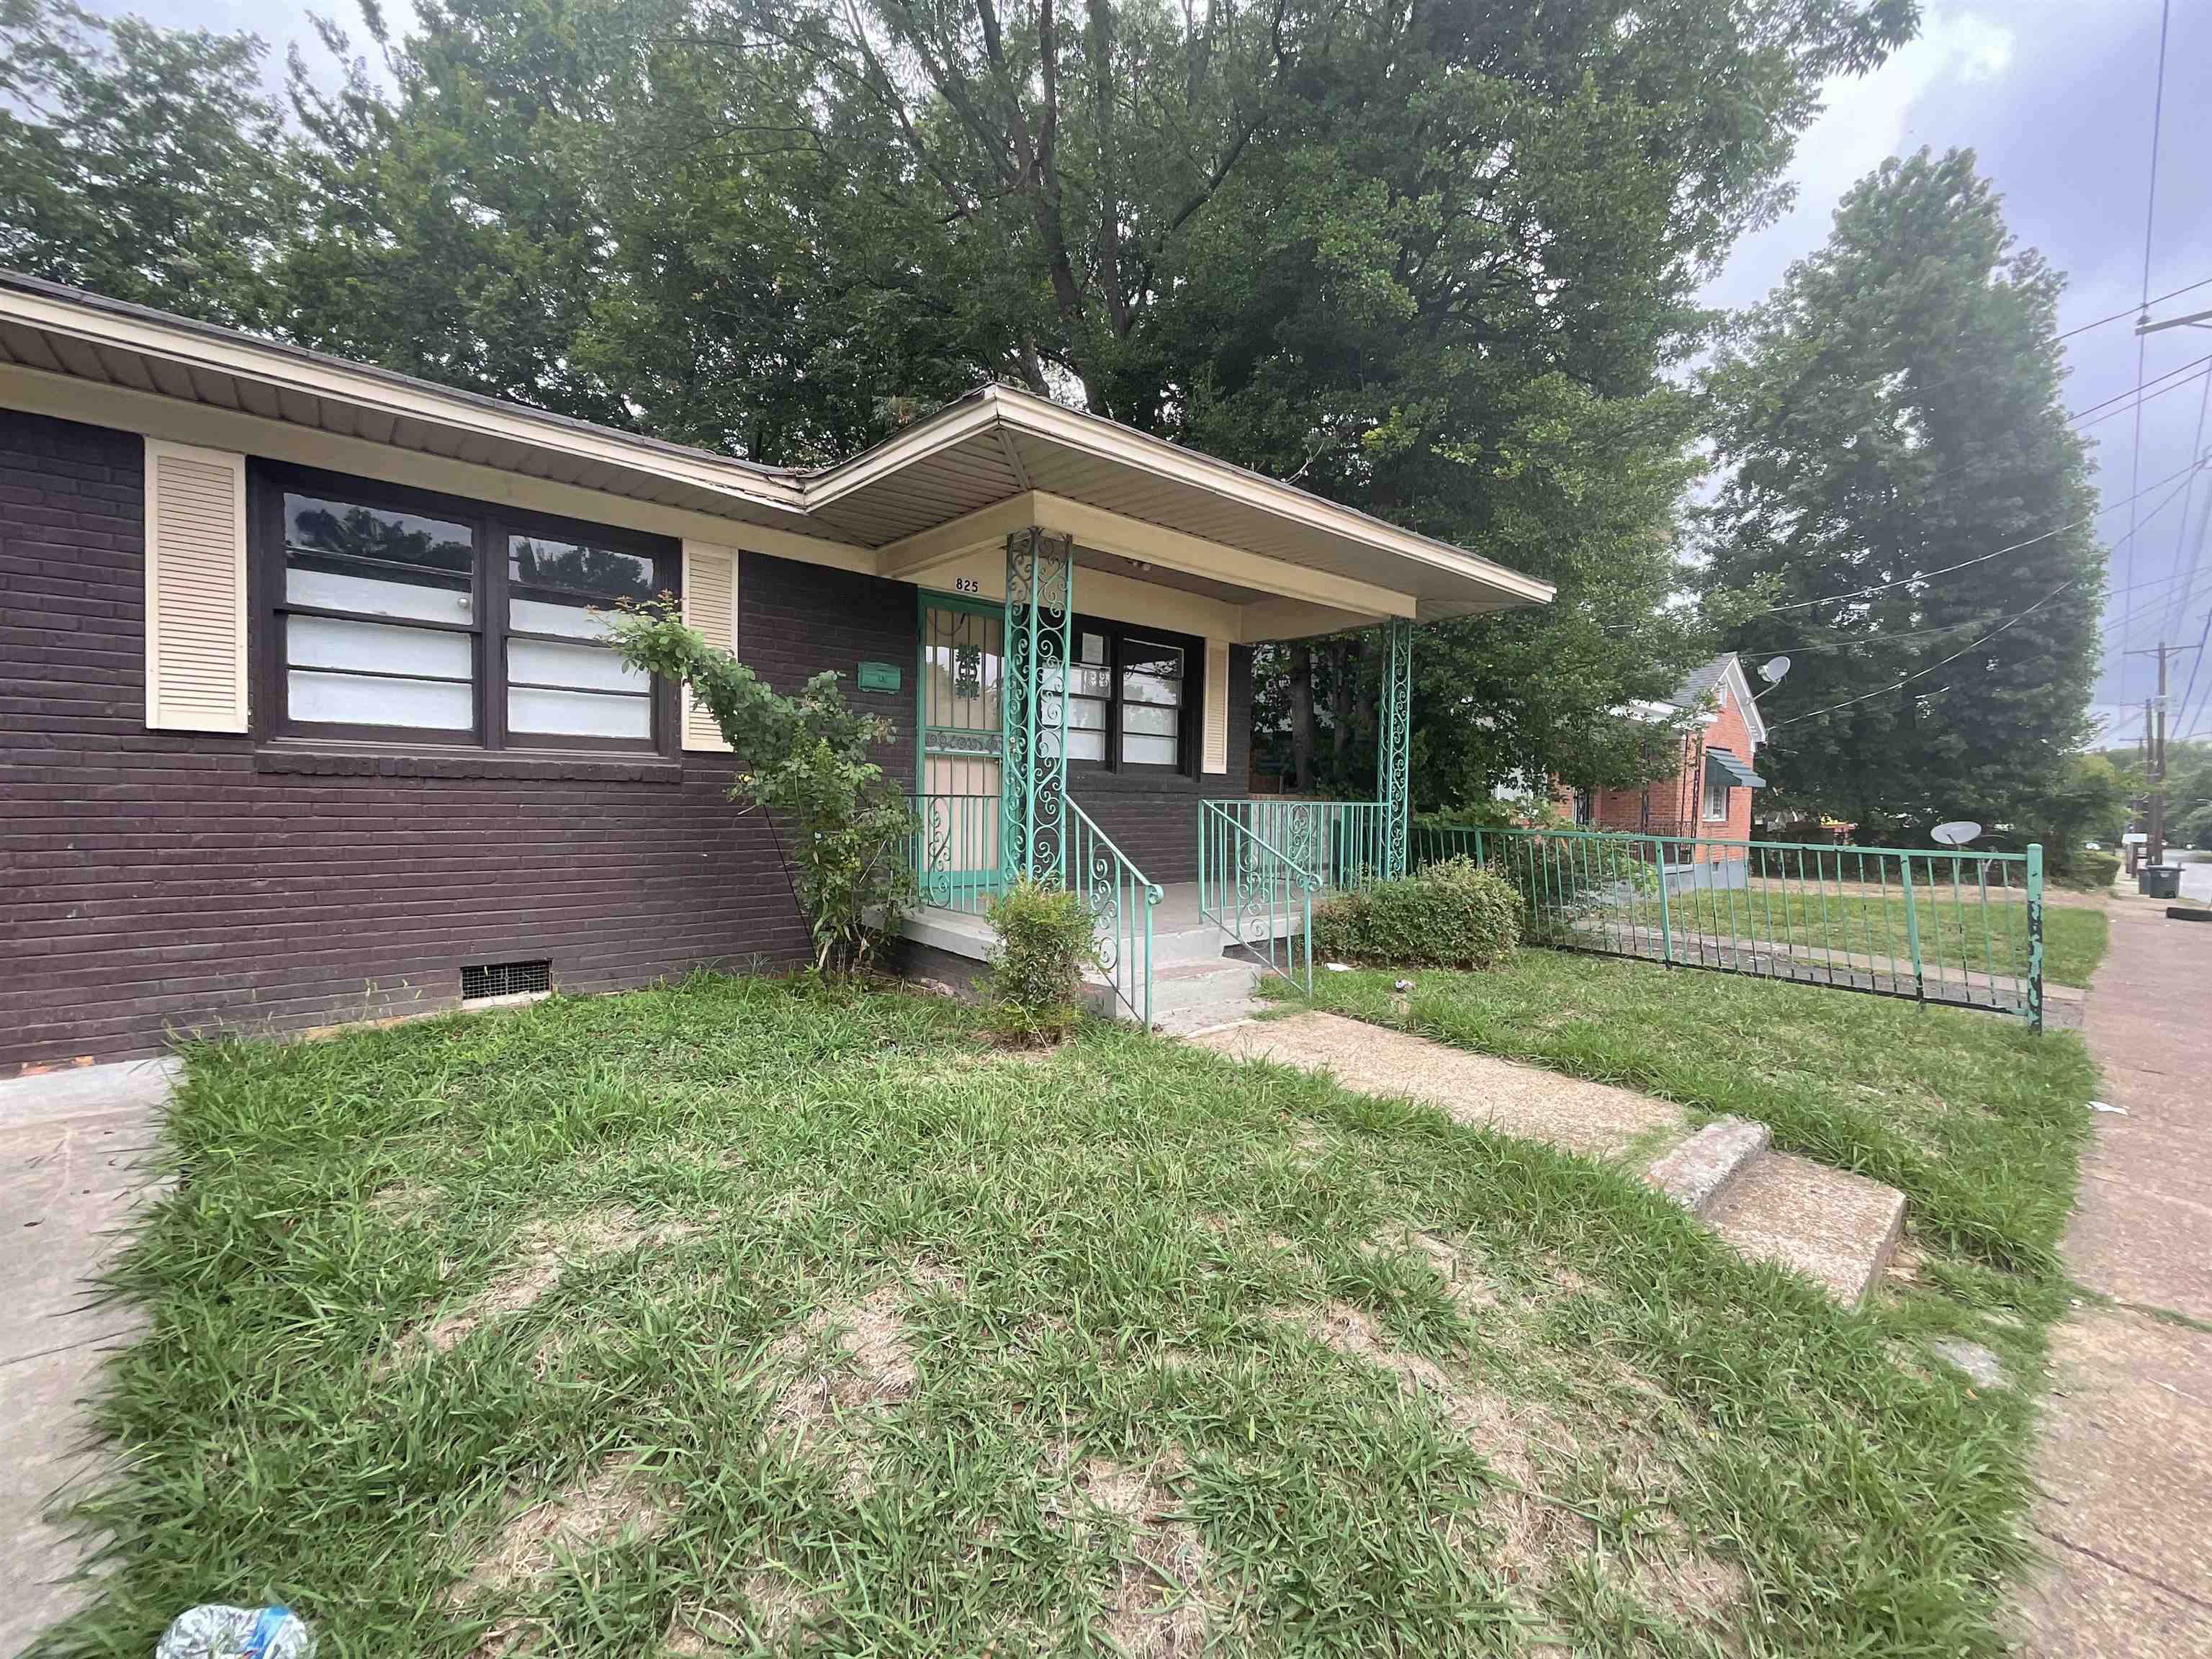
[[[1790,1152],[1761,1152],[1705,1223],[1745,1256],[1803,1272],[1845,1307],[1880,1281],[1905,1234],[1905,1194]]]

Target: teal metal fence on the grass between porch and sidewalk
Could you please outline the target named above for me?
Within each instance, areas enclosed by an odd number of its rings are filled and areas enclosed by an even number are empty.
[[[1993,1009],[2044,1024],[2044,849],[1418,825],[1504,876],[1537,945]]]

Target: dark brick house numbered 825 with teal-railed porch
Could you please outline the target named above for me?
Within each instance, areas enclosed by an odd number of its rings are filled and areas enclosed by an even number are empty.
[[[1405,845],[1402,719],[1365,816],[1248,812],[1256,644],[1378,626],[1409,684],[1413,624],[1551,597],[1006,387],[807,473],[11,274],[0,577],[0,1073],[805,960],[624,597],[891,719],[925,900],[1110,874],[1146,920],[1206,845]]]

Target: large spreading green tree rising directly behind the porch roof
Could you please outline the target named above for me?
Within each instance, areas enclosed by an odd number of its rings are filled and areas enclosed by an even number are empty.
[[[1916,15],[422,0],[389,40],[363,11],[389,91],[294,77],[270,327],[796,465],[1004,376],[1551,577],[1546,611],[1422,633],[1431,801],[1632,763],[1608,710],[1701,646],[1666,606],[1697,283],[1818,86]],[[1356,772],[1374,655],[1323,657]]]

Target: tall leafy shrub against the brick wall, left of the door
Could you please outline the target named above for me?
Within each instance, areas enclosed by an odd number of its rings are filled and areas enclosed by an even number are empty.
[[[849,708],[834,672],[796,697],[770,690],[686,628],[666,597],[626,606],[608,630],[626,664],[677,681],[714,717],[739,765],[730,799],[787,830],[776,845],[814,933],[814,969],[867,967],[878,929],[894,929],[916,896],[914,807],[869,759],[891,723]]]

